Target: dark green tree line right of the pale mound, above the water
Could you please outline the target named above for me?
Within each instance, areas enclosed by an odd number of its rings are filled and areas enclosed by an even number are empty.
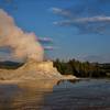
[[[68,62],[54,61],[54,66],[62,75],[74,75],[77,77],[109,77],[110,64],[99,64],[69,59]]]

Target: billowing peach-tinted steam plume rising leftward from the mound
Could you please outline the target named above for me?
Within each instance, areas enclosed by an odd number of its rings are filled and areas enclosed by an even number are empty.
[[[12,57],[43,61],[44,51],[35,34],[25,33],[14,23],[12,16],[0,9],[0,47],[9,47]]]

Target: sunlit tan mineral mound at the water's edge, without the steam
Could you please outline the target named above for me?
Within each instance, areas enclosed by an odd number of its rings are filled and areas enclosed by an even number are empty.
[[[0,80],[62,79],[63,76],[53,67],[53,62],[29,59],[18,69],[0,69]]]

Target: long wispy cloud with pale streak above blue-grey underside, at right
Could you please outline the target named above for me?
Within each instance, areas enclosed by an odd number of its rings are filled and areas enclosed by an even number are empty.
[[[110,16],[106,15],[96,15],[96,16],[79,16],[70,18],[63,21],[53,22],[55,25],[61,26],[75,26],[79,32],[84,33],[99,33],[99,34],[109,34],[110,28]]]

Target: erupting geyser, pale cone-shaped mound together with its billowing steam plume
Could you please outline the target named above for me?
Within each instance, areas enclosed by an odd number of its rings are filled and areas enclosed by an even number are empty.
[[[43,62],[44,51],[33,33],[18,28],[13,19],[0,9],[0,47],[11,50],[14,58],[25,59],[16,69],[0,68],[0,80],[63,79],[52,62]]]

